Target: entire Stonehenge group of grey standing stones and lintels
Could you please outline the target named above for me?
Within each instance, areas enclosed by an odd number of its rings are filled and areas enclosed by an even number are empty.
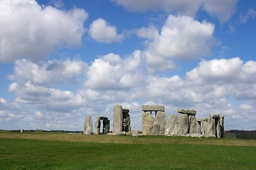
[[[106,135],[165,135],[190,137],[224,137],[224,116],[210,114],[208,118],[196,118],[196,111],[192,109],[177,109],[178,115],[167,115],[165,106],[143,105],[141,134],[130,128],[130,110],[116,105],[113,108],[113,132],[110,132],[110,120],[105,116],[96,117],[94,134]],[[84,134],[93,134],[91,116],[84,120]]]

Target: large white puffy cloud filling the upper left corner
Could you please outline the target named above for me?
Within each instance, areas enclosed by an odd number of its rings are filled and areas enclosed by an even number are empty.
[[[0,62],[40,60],[55,47],[82,45],[84,9],[62,11],[34,0],[0,1]]]

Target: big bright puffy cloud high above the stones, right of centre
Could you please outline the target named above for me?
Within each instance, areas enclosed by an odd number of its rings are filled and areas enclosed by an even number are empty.
[[[165,70],[174,67],[174,59],[211,55],[213,31],[213,24],[206,21],[200,23],[188,16],[169,15],[160,33],[148,42],[148,50],[144,52],[146,62],[150,67]]]

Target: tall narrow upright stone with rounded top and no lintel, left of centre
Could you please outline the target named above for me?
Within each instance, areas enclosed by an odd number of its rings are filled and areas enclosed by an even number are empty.
[[[121,135],[123,130],[123,108],[116,105],[113,108],[113,133]]]

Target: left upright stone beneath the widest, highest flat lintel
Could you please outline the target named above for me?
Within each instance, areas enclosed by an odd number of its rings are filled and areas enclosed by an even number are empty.
[[[150,111],[143,112],[142,115],[142,123],[143,123],[143,135],[152,135],[153,132],[153,124],[155,122],[155,118],[152,116]]]

